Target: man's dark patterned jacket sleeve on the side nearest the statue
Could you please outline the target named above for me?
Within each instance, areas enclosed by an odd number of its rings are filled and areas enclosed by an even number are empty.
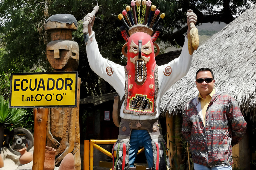
[[[190,121],[188,121],[188,117],[187,117],[187,108],[188,108],[188,106],[187,105],[185,106],[185,112],[184,112],[184,115],[183,115],[181,131],[182,131],[182,134],[183,134],[185,140],[190,143],[192,124],[191,124]]]

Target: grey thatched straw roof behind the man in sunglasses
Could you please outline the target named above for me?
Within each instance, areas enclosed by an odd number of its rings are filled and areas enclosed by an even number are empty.
[[[213,35],[195,52],[185,77],[164,95],[161,113],[179,114],[198,94],[195,73],[208,67],[214,72],[215,86],[233,96],[244,114],[256,115],[256,5]]]

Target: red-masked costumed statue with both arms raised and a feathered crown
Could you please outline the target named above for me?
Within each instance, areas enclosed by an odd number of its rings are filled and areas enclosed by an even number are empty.
[[[149,5],[148,2],[146,5],[150,7],[151,1]],[[145,148],[147,169],[169,169],[167,146],[159,122],[160,100],[176,81],[187,74],[192,55],[189,54],[188,38],[185,36],[180,57],[168,64],[158,66],[155,60],[154,45],[157,46],[158,52],[159,47],[154,42],[160,33],[157,25],[162,16],[156,21],[159,10],[157,14],[155,12],[156,6],[152,5],[150,12],[149,9],[146,12],[142,10],[142,17],[138,10],[137,20],[135,2],[132,1],[131,3],[134,17],[131,15],[130,6],[126,8],[130,17],[125,13],[126,11],[123,11],[130,26],[122,18],[123,15],[119,15],[119,19],[125,25],[121,28],[121,33],[127,42],[122,49],[123,55],[127,57],[127,65],[118,65],[101,56],[95,33],[92,31],[95,19],[92,14],[88,14],[84,18],[84,23],[90,23],[88,25],[89,41],[86,43],[87,57],[91,69],[111,84],[122,99],[120,102],[121,121],[118,122],[119,135],[112,150],[113,170],[135,170],[134,160],[140,146]],[[137,5],[138,9],[139,6],[140,2]],[[190,10],[187,13],[187,19],[189,33],[189,24],[193,23],[194,25],[197,16]],[[154,21],[156,21],[155,25]],[[143,22],[146,25],[141,24]],[[85,27],[84,24],[84,29]],[[128,30],[129,36],[125,29]],[[155,33],[154,30],[156,30]],[[128,48],[127,53],[124,50],[126,46]]]

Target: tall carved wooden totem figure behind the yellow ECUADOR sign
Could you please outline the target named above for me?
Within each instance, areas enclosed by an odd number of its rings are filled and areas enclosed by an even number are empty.
[[[75,71],[78,68],[78,43],[72,41],[72,31],[77,30],[73,15],[57,14],[46,21],[45,30],[51,33],[47,44],[47,60],[54,71]],[[79,101],[81,78],[77,82],[77,107],[50,108],[46,145],[56,149],[55,165],[72,153],[76,170],[81,170]]]

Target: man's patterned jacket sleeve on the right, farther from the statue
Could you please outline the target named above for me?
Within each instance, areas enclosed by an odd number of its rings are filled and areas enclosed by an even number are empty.
[[[246,132],[247,123],[244,120],[237,101],[233,97],[230,97],[228,121],[232,128],[231,145],[234,146],[242,140]]]

